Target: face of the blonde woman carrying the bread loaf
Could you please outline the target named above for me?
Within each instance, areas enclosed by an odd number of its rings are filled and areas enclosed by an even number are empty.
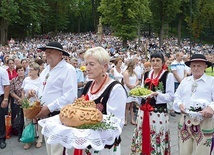
[[[95,79],[102,74],[105,74],[106,70],[104,65],[101,65],[97,59],[89,56],[85,59],[86,73],[89,79]]]

